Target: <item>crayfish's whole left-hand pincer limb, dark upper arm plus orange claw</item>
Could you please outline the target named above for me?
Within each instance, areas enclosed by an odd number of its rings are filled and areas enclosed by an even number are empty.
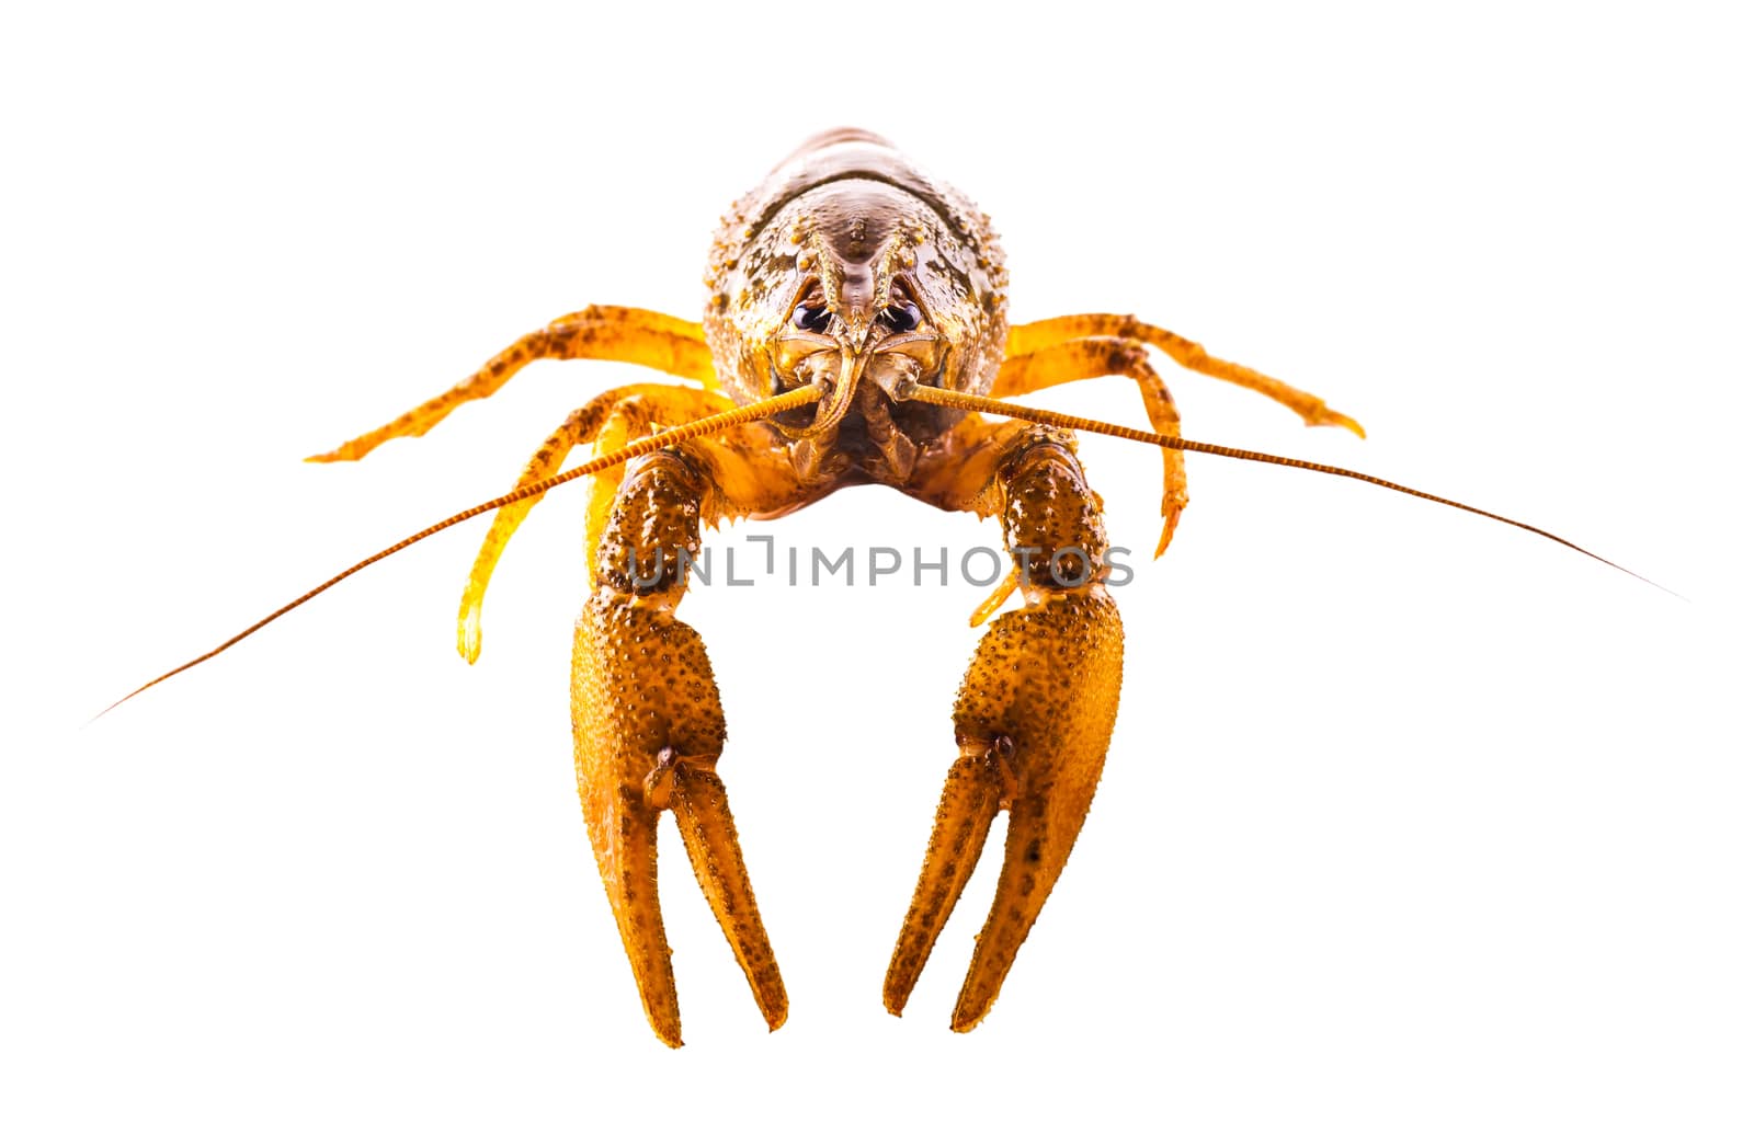
[[[716,764],[724,713],[705,645],[675,618],[688,582],[677,554],[700,548],[709,473],[688,454],[633,461],[595,552],[596,589],[574,641],[572,725],[579,799],[598,872],[645,1016],[682,1044],[675,976],[658,909],[658,813],[675,811],[689,862],[770,1028],[786,986],[756,911]]]

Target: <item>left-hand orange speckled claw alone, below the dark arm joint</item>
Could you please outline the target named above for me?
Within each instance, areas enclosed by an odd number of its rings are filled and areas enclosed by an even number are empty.
[[[652,1032],[682,1044],[658,908],[658,815],[667,808],[756,1006],[768,1028],[779,1028],[786,985],[714,771],[724,713],[700,636],[668,611],[600,590],[574,643],[572,713],[586,830]]]

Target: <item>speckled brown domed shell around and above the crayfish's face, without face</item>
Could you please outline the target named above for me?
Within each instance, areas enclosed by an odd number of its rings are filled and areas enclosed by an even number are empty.
[[[714,238],[703,328],[719,384],[740,405],[772,394],[768,345],[812,277],[838,296],[844,282],[888,293],[898,275],[949,345],[944,385],[986,392],[1007,328],[1005,256],[988,215],[882,137],[812,137],[731,207]]]

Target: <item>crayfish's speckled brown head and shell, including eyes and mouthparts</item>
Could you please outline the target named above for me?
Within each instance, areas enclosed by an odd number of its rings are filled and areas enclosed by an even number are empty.
[[[770,424],[810,477],[893,482],[958,419],[902,401],[921,382],[982,392],[1003,357],[1003,265],[972,205],[882,138],[824,133],[726,215],[705,331],[740,405],[821,385]]]

